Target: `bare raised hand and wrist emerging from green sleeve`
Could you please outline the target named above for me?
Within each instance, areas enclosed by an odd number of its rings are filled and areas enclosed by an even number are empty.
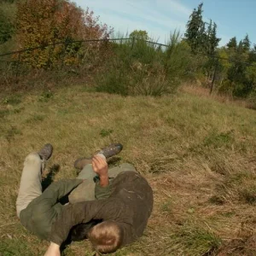
[[[92,158],[92,169],[100,177],[100,185],[102,187],[108,186],[108,163],[99,155]]]

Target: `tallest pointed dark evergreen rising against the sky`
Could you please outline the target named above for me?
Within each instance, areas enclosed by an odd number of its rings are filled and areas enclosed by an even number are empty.
[[[202,20],[202,6],[203,3],[199,4],[198,8],[194,9],[189,16],[187,30],[185,32],[185,38],[194,53],[203,47],[205,24]]]

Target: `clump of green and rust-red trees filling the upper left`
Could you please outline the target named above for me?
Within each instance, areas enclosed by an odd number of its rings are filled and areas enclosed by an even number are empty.
[[[84,55],[82,44],[68,44],[89,38],[108,39],[111,29],[101,24],[89,9],[80,9],[65,0],[9,0],[0,10],[11,10],[0,21],[0,44],[2,49],[30,49],[21,61],[29,67],[56,67],[76,62],[77,55]],[[4,27],[4,29],[2,29]],[[66,42],[66,44],[59,44]],[[50,45],[50,46],[48,46]],[[100,45],[102,46],[102,44]],[[94,55],[99,45],[88,44],[86,55]]]

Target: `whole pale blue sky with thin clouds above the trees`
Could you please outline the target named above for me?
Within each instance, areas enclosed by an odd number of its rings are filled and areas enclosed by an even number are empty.
[[[241,40],[248,33],[256,43],[256,0],[75,0],[81,8],[89,7],[102,23],[115,32],[146,30],[148,35],[165,43],[175,29],[185,32],[189,15],[203,2],[203,19],[218,25],[220,45],[236,36]]]

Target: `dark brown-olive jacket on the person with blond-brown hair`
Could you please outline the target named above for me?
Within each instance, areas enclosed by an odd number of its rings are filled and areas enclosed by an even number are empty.
[[[113,220],[124,230],[122,245],[143,236],[153,208],[153,192],[137,172],[121,172],[113,179],[108,199],[68,205],[56,218],[49,240],[61,245],[74,225],[92,219]],[[96,189],[102,189],[96,186]],[[108,188],[107,188],[108,189]]]

